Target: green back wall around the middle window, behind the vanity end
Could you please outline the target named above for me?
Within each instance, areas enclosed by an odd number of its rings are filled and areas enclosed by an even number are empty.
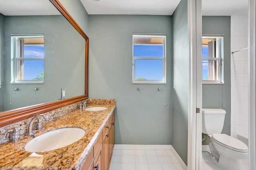
[[[132,84],[132,33],[166,33],[166,85]],[[89,98],[116,99],[115,143],[170,145],[172,16],[89,15],[88,36]]]

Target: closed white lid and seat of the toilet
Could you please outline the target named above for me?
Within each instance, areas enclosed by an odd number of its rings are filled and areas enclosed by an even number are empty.
[[[242,141],[239,141],[238,139],[226,134],[212,134],[212,139],[216,143],[226,148],[236,150],[238,152],[248,152],[247,145],[245,145]]]

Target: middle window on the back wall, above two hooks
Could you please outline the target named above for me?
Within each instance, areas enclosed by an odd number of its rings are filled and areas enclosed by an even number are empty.
[[[132,35],[132,83],[166,83],[166,35]]]

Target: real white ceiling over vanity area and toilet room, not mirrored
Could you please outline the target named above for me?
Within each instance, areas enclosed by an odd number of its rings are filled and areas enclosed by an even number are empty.
[[[172,15],[180,0],[80,0],[88,14]],[[248,0],[202,0],[205,16],[247,15]]]

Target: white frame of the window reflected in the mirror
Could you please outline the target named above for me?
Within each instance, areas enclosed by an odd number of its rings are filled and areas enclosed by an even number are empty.
[[[11,34],[11,84],[43,84],[44,80],[18,80],[18,61],[24,60],[44,60],[44,57],[21,57],[23,52],[20,48],[22,39],[44,38],[44,34],[36,35],[16,35]]]

